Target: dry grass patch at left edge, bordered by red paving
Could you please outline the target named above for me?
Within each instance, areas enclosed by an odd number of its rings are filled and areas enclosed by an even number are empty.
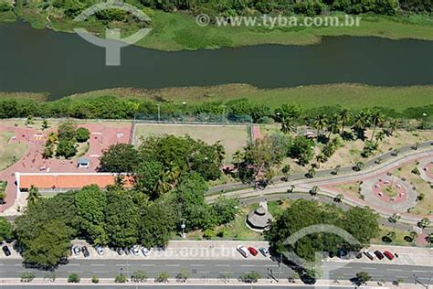
[[[12,136],[12,132],[0,133],[0,171],[14,165],[26,153],[26,144],[8,144]]]

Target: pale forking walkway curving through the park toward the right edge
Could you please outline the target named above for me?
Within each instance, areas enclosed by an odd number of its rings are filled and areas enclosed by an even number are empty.
[[[404,152],[406,154],[400,155],[391,155],[391,152],[381,155],[383,160],[380,164],[375,164],[375,159],[370,160],[365,166],[365,169],[360,172],[354,172],[352,168],[350,170],[341,170],[342,175],[333,176],[331,172],[328,170],[326,173],[322,171],[322,174],[319,177],[314,177],[311,179],[301,178],[296,180],[290,180],[289,182],[279,182],[274,185],[270,185],[266,189],[259,190],[256,188],[246,188],[238,191],[232,191],[225,193],[224,195],[227,197],[236,197],[236,198],[251,198],[251,197],[264,197],[272,194],[278,194],[281,192],[286,192],[291,186],[295,186],[295,191],[308,192],[313,186],[318,186],[320,188],[320,193],[329,195],[331,197],[335,197],[338,194],[343,194],[343,202],[347,203],[351,206],[369,206],[372,209],[375,209],[381,216],[387,218],[392,216],[396,210],[389,208],[389,206],[378,206],[377,202],[370,203],[366,200],[358,198],[351,193],[343,192],[342,190],[336,189],[335,185],[341,185],[346,183],[353,183],[356,181],[364,181],[370,178],[375,178],[379,176],[385,176],[386,172],[396,169],[399,166],[404,166],[407,163],[414,162],[420,159],[425,159],[429,157],[433,157],[433,147],[432,142],[427,142],[418,146],[417,150],[413,150],[411,146],[407,146],[409,150],[405,149]],[[419,149],[423,147],[424,149]],[[400,152],[403,150],[400,149]],[[387,156],[389,155],[389,156]],[[317,174],[319,175],[319,174]],[[215,200],[218,197],[217,193],[209,194],[206,199],[210,202]],[[411,215],[407,213],[401,214],[400,221],[407,222],[412,225],[416,225],[419,219],[429,216],[422,215]]]

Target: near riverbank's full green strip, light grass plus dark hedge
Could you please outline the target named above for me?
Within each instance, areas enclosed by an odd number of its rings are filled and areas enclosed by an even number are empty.
[[[301,113],[300,119],[319,113],[333,115],[342,109],[358,113],[379,110],[400,119],[433,119],[433,86],[372,87],[357,84],[305,86],[261,90],[249,85],[167,88],[160,90],[111,89],[90,91],[58,100],[44,95],[0,92],[0,118],[73,117],[80,119],[143,119],[232,121],[269,123],[285,105]],[[266,103],[266,104],[263,104]],[[294,107],[294,108],[293,108]],[[283,109],[285,110],[285,109]],[[299,112],[298,112],[299,111]],[[291,113],[291,112],[290,112]],[[278,121],[278,120],[277,120]]]

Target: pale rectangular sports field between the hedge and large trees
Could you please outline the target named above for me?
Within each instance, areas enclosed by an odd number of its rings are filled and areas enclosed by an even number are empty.
[[[246,125],[188,125],[188,124],[144,124],[136,126],[136,143],[142,136],[153,134],[188,134],[192,138],[200,139],[207,144],[221,141],[226,148],[226,162],[231,161],[232,155],[248,142],[248,126]]]

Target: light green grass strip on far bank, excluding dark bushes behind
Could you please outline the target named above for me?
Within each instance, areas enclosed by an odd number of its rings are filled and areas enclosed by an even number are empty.
[[[165,51],[261,44],[312,45],[321,43],[322,37],[327,36],[433,40],[433,19],[419,15],[362,15],[359,27],[283,27],[270,30],[266,27],[200,27],[194,16],[150,9],[146,9],[146,14],[152,18],[153,30],[136,45]],[[16,15],[39,29],[50,27],[56,31],[72,32],[76,25],[65,17],[48,17],[46,12],[36,9],[16,8]],[[342,14],[335,16],[343,18]],[[103,25],[95,20],[85,22],[82,27],[93,33],[103,34],[104,31]],[[137,28],[137,24],[122,26],[122,35],[132,34]]]

